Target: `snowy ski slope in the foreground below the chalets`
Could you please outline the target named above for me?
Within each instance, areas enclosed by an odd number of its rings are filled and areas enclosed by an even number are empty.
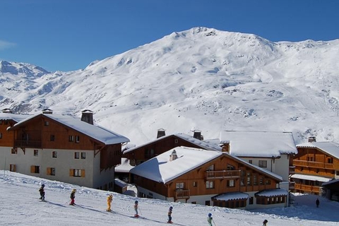
[[[46,202],[38,199],[41,184],[45,184]],[[78,206],[69,206],[73,188]],[[108,194],[113,194],[114,213],[106,211]],[[131,217],[136,200],[142,217],[138,219]],[[290,208],[249,212],[124,196],[0,170],[0,225],[167,225],[169,206],[173,206],[174,225],[207,226],[208,213],[217,226],[262,225],[265,219],[268,226],[339,225],[339,203],[320,198],[320,208],[316,208],[315,201],[316,196],[295,194],[295,206]]]

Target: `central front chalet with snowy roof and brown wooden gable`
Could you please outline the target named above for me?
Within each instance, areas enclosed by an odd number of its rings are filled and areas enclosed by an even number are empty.
[[[287,206],[288,192],[278,187],[282,177],[220,151],[172,148],[130,172],[138,197],[245,209]]]

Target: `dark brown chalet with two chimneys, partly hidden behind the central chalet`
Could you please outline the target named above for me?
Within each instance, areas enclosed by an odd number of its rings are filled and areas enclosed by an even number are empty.
[[[205,150],[221,150],[219,145],[202,141],[201,137],[201,133],[197,131],[195,131],[194,136],[189,136],[184,133],[166,136],[165,131],[160,130],[157,133],[157,139],[125,150],[123,157],[129,159],[130,164],[134,166],[179,146],[202,148]]]

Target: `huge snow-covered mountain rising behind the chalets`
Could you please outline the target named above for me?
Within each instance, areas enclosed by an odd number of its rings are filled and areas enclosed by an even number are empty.
[[[140,145],[200,130],[291,131],[296,143],[339,141],[339,40],[271,42],[192,28],[78,71],[0,61],[0,107],[79,116]]]

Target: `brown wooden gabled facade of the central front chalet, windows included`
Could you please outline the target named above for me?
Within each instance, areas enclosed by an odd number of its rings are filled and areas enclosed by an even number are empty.
[[[165,197],[165,200],[173,199],[191,203],[196,203],[194,198],[197,196],[212,197],[227,192],[254,193],[265,189],[276,189],[281,182],[271,174],[266,174],[227,153],[203,165],[197,165],[189,172],[166,183],[156,182],[136,174],[133,175],[133,179],[137,186],[149,191],[148,194],[139,191],[139,197],[153,198],[150,194],[154,192]],[[210,201],[212,200],[209,198],[204,204],[209,205]]]

